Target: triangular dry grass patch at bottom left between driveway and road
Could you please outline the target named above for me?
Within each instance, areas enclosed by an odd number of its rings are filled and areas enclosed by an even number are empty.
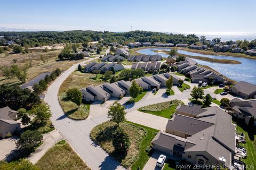
[[[66,143],[58,142],[38,160],[36,165],[41,170],[90,169],[75,151]]]

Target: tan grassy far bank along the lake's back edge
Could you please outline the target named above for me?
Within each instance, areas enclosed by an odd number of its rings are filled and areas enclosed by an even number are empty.
[[[138,48],[130,48],[129,52],[132,55],[141,55],[137,51],[140,49],[146,49],[146,48],[176,48],[176,49],[181,49],[181,50],[186,50],[187,52],[192,52],[192,53],[198,53],[198,54],[205,54],[205,55],[218,55],[218,56],[231,56],[231,57],[238,57],[238,58],[248,58],[248,59],[253,59],[256,60],[256,56],[250,56],[242,53],[231,53],[231,52],[213,52],[210,50],[198,50],[198,49],[190,49],[187,47],[156,47],[156,46],[148,46],[148,47],[138,47]]]

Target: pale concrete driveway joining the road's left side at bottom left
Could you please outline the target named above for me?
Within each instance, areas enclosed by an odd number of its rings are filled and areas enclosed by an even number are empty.
[[[39,146],[35,152],[31,153],[27,159],[33,164],[37,163],[37,161],[44,156],[47,150],[52,148],[55,143],[62,139],[62,136],[57,130],[43,134],[43,144]]]

